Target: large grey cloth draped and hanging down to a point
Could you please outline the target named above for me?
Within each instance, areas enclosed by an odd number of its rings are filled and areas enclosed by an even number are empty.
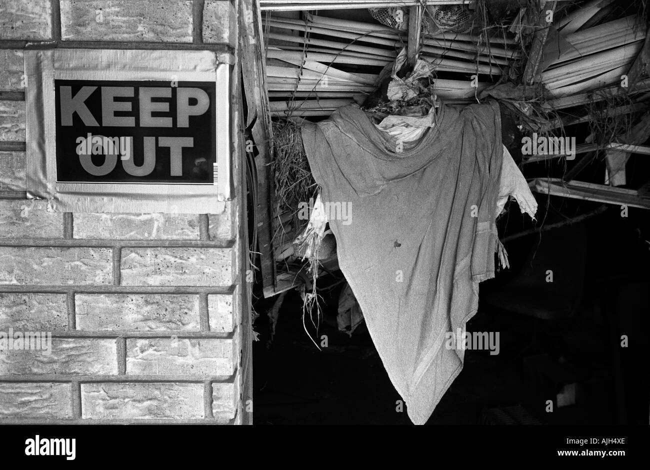
[[[503,160],[499,106],[441,106],[408,150],[356,105],[305,125],[302,139],[350,283],[408,415],[423,424],[463,366],[446,332],[465,331],[478,283],[494,276]]]

